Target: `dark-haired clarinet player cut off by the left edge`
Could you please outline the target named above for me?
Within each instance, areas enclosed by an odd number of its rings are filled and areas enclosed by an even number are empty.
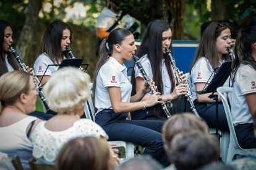
[[[4,73],[19,70],[15,62],[15,57],[10,52],[10,47],[12,45],[12,26],[6,20],[0,20],[0,76]],[[33,68],[26,67],[30,75],[33,76]],[[30,116],[36,116],[40,119],[49,119],[54,115],[46,114],[40,111],[33,111],[29,114]]]

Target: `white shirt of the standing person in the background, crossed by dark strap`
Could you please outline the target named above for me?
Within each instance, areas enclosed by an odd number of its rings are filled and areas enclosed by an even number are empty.
[[[110,9],[105,10],[101,12],[99,17],[97,18],[97,28],[106,28],[108,30],[116,21],[117,21],[117,16],[121,16],[121,12],[119,15],[114,14]],[[116,28],[130,28],[130,16],[129,15],[124,15],[122,17],[120,23],[116,26]]]

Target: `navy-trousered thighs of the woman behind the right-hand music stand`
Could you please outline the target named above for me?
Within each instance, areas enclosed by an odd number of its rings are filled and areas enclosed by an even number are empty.
[[[194,101],[198,115],[206,121],[208,127],[216,128],[216,105],[215,103],[199,103]],[[228,121],[223,103],[218,103],[218,129],[229,132]]]

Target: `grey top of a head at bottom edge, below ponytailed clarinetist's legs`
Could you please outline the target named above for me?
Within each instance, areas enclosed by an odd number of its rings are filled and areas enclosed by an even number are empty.
[[[151,158],[150,155],[143,155],[137,158],[132,158],[120,166],[117,166],[115,170],[162,170],[163,166],[158,161]]]

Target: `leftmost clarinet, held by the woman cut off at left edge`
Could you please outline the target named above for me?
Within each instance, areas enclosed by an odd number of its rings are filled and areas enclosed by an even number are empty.
[[[14,48],[12,46],[9,46],[10,47],[10,52],[12,52],[12,54],[14,55],[15,59],[17,60],[17,62],[19,63],[20,65],[20,69],[22,71],[25,71],[26,73],[28,73],[28,75],[30,75],[29,71],[26,69],[26,65],[25,63],[22,62],[22,60],[20,59],[19,55],[17,54],[17,52],[14,50]],[[36,80],[36,83],[40,83],[40,81],[38,80],[38,78],[36,78],[35,76],[35,80]],[[51,109],[49,108],[48,106],[48,103],[46,102],[45,100],[45,95],[43,94],[43,92],[41,91],[42,90],[42,87],[39,87],[39,91],[38,91],[38,94],[39,94],[39,97],[40,99],[42,100],[43,102],[43,105],[45,105],[45,108],[46,108],[46,113],[51,113]]]

